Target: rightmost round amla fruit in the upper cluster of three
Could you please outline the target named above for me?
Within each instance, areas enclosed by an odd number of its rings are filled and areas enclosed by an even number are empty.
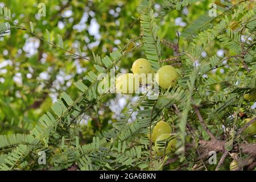
[[[179,77],[178,73],[176,72],[175,68],[171,65],[165,65],[158,69],[158,85],[164,89],[168,89],[169,87],[172,88],[177,83],[177,78]]]

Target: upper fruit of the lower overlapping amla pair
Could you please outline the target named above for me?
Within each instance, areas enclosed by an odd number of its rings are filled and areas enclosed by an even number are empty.
[[[155,140],[162,134],[170,134],[172,133],[172,128],[171,126],[164,121],[159,121],[156,123],[153,131],[152,131],[152,142],[155,143]]]

